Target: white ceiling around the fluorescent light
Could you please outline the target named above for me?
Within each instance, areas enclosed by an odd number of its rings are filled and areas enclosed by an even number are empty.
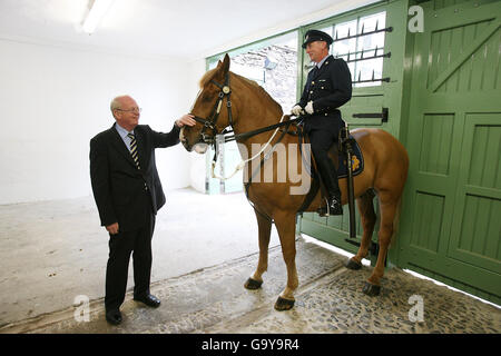
[[[0,0],[0,38],[194,59],[370,2],[374,0],[115,0],[89,36],[80,30],[89,0]]]

